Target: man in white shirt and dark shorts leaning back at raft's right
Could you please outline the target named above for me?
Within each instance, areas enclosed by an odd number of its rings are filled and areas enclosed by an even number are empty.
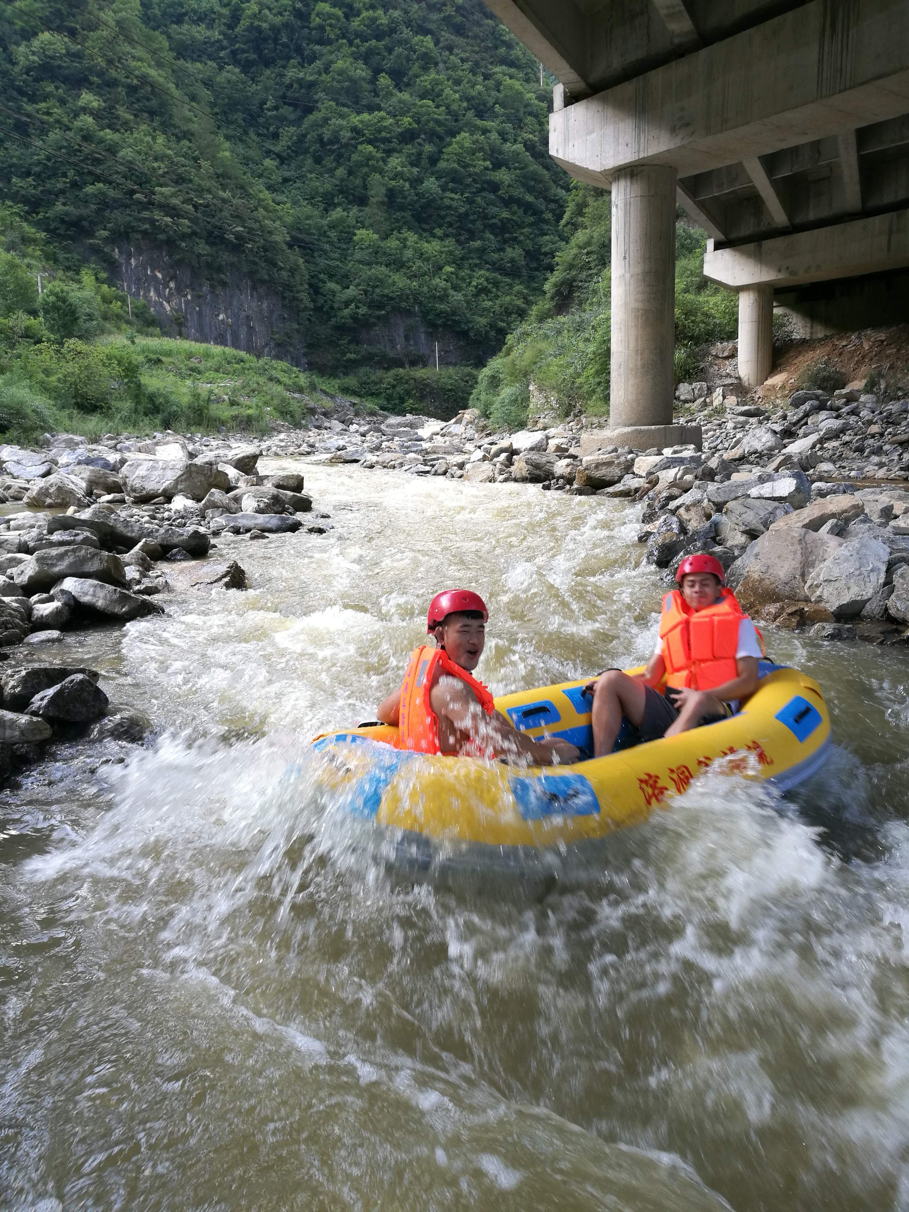
[[[675,574],[680,589],[663,599],[659,641],[644,673],[607,669],[588,684],[595,758],[612,753],[623,715],[645,743],[722,719],[726,703],[758,688],[759,635],[724,577],[713,555],[682,560]],[[663,694],[656,687],[664,675]]]

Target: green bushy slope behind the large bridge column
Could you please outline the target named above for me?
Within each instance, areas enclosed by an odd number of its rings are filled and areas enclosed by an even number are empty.
[[[572,185],[562,219],[567,244],[528,318],[480,372],[471,404],[497,424],[518,428],[536,406],[567,416],[608,412],[611,198]],[[698,347],[736,335],[737,296],[703,276],[705,233],[675,227],[676,382],[696,377]]]

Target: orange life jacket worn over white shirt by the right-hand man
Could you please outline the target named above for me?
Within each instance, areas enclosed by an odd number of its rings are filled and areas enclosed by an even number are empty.
[[[667,686],[713,690],[738,678],[736,651],[743,618],[748,614],[731,589],[724,589],[720,601],[699,611],[692,610],[678,589],[667,594],[659,619]],[[762,648],[760,631],[758,636]]]

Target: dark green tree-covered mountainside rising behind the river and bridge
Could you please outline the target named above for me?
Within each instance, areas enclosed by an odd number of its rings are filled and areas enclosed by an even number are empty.
[[[0,188],[70,268],[147,241],[279,286],[319,368],[394,365],[364,342],[401,314],[481,361],[561,244],[548,96],[482,0],[17,0]]]

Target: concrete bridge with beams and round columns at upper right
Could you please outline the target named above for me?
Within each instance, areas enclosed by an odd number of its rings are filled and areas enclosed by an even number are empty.
[[[751,387],[771,368],[774,292],[856,279],[909,319],[909,276],[893,290],[909,267],[909,0],[486,4],[560,81],[553,158],[612,190],[625,441],[694,436],[671,427],[676,204],[710,236],[705,275],[738,291]]]

